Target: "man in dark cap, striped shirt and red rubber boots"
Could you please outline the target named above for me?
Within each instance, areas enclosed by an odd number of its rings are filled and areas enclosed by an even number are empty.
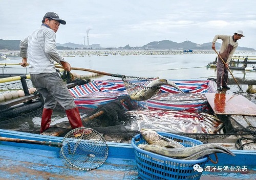
[[[26,67],[29,63],[31,82],[44,98],[40,133],[49,128],[57,102],[66,110],[73,129],[83,126],[74,98],[54,66],[54,62],[57,62],[63,69],[71,70],[70,64],[57,51],[55,44],[55,33],[60,24],[66,24],[66,21],[56,13],[48,12],[42,19],[41,27],[19,44],[22,57],[20,65]]]

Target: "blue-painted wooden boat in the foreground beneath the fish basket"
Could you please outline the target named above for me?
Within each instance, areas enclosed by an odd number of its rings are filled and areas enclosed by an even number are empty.
[[[137,135],[138,137],[139,135]],[[1,179],[141,179],[140,174],[148,175],[151,173],[164,177],[161,166],[156,167],[158,171],[138,173],[138,161],[136,161],[135,149],[130,142],[111,142],[107,141],[108,157],[98,168],[93,170],[77,170],[71,168],[66,160],[60,158],[59,147],[34,143],[17,143],[19,139],[31,141],[60,142],[61,137],[35,135],[30,133],[20,133],[7,130],[0,130],[1,138],[12,138],[13,142],[0,141],[0,176]],[[236,155],[230,157],[226,154],[218,154],[218,163],[212,164],[207,161],[205,169],[201,174],[204,179],[254,179],[255,151],[232,150]],[[158,158],[165,158],[160,155]],[[215,159],[215,157],[211,157]],[[166,162],[170,160],[165,158]],[[159,162],[160,163],[160,162]],[[191,164],[190,164],[191,166]],[[154,167],[152,167],[154,169]],[[184,167],[185,168],[185,167]],[[182,169],[182,167],[181,167]],[[162,174],[161,174],[162,173]],[[168,174],[168,171],[165,172]],[[164,179],[180,179],[177,177],[167,177]],[[190,179],[199,179],[190,178]]]

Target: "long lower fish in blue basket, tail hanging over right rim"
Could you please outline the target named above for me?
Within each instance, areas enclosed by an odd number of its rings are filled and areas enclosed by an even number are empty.
[[[215,144],[200,144],[191,147],[183,147],[183,148],[166,148],[158,145],[149,145],[149,144],[139,144],[139,148],[150,151],[153,153],[157,153],[158,155],[170,157],[170,158],[182,158],[182,159],[198,159],[202,156],[209,155],[210,153],[215,152],[223,152],[228,155],[235,156],[230,150]],[[207,154],[208,153],[208,154]]]

